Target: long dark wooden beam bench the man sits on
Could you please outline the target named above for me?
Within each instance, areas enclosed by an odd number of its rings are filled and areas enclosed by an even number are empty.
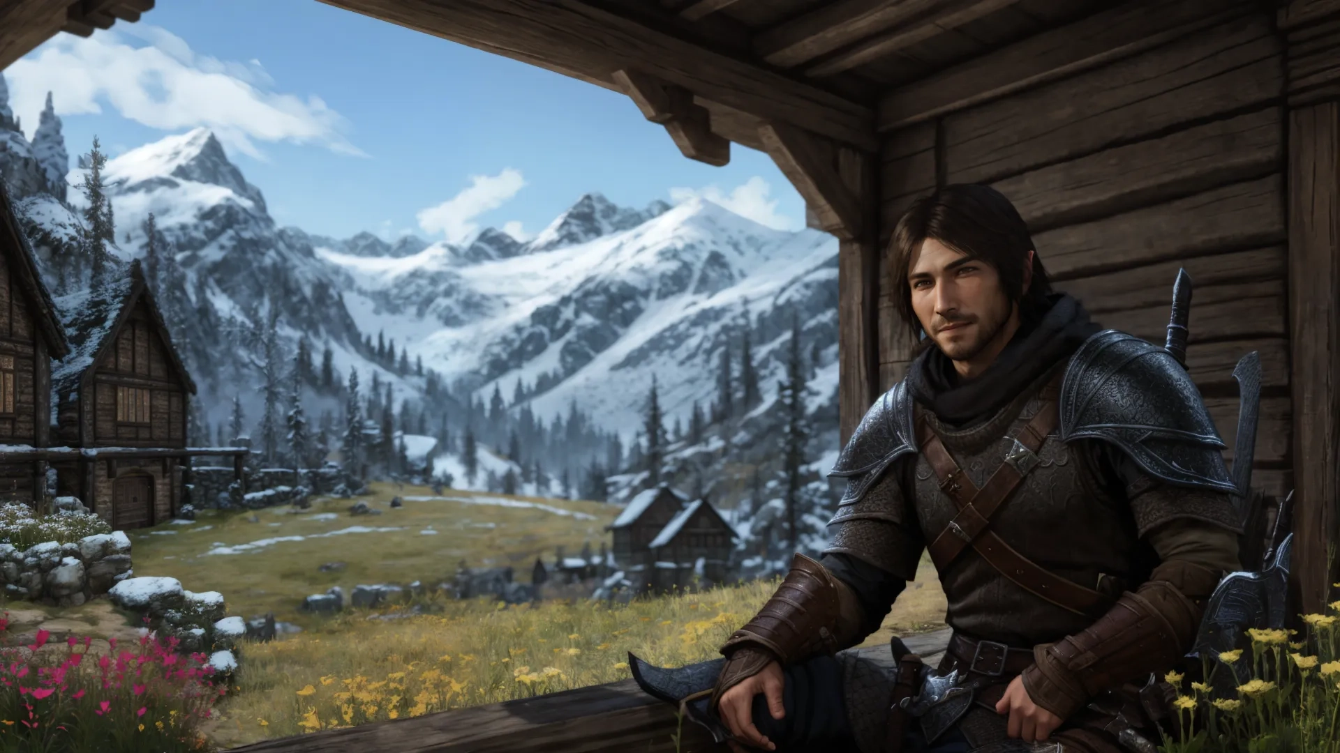
[[[949,628],[904,639],[927,663],[949,643]],[[888,646],[852,648],[888,654]],[[673,753],[675,709],[632,679],[519,698],[488,706],[359,725],[232,749],[232,753]],[[698,725],[685,722],[681,753],[726,750]]]

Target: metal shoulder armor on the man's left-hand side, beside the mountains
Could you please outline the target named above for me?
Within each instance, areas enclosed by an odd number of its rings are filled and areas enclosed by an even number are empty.
[[[906,381],[899,381],[870,406],[828,472],[828,476],[850,478],[844,501],[860,498],[890,464],[917,452],[913,415]]]

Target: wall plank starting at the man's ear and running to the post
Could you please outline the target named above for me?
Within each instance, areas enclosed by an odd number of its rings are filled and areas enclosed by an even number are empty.
[[[1281,176],[1033,236],[1037,253],[1056,281],[1284,240]]]

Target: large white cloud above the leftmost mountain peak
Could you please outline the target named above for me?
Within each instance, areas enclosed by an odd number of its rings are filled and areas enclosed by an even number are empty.
[[[118,25],[90,38],[56,35],[11,64],[5,76],[13,110],[31,123],[51,91],[58,115],[99,114],[106,105],[154,129],[208,127],[255,158],[263,158],[257,141],[316,143],[366,157],[343,135],[344,117],[319,96],[273,91],[275,80],[259,60],[200,55],[153,25]]]

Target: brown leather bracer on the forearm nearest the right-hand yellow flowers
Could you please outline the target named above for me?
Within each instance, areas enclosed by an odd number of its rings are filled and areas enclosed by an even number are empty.
[[[1065,720],[1104,690],[1172,669],[1195,639],[1217,583],[1201,565],[1160,564],[1083,632],[1033,648],[1036,663],[1022,675],[1029,698]]]

